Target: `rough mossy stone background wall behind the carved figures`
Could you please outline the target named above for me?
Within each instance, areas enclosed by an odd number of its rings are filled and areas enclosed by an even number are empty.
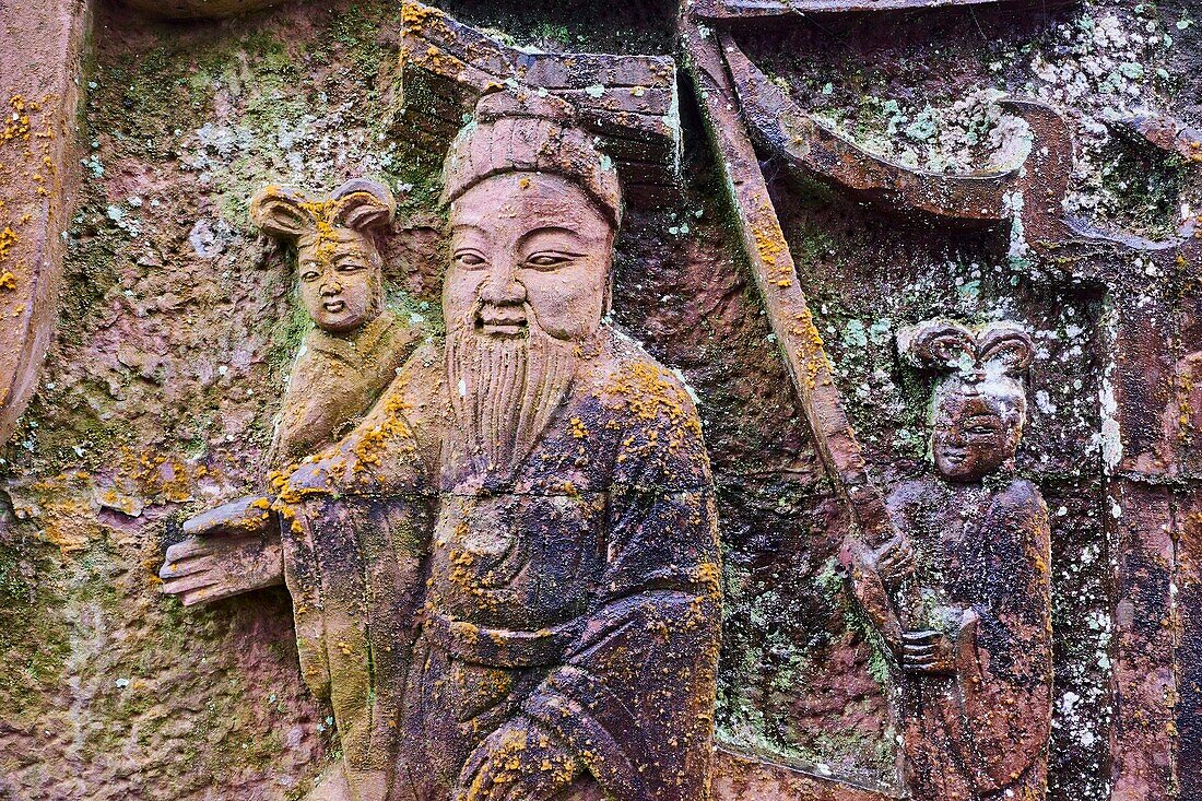
[[[1190,5],[849,17],[739,41],[803,106],[932,170],[980,166],[1018,136],[994,93],[1053,101],[1078,134],[1076,207],[1158,237],[1202,202],[1202,172],[1111,120],[1147,108],[1202,123]],[[674,48],[671,2],[525,6],[440,7],[543,49]],[[439,164],[389,137],[399,35],[399,4],[371,0],[190,25],[95,8],[58,339],[0,464],[0,797],[296,799],[335,754],[329,712],[297,677],[281,591],[183,610],[154,574],[184,518],[252,489],[305,333],[294,265],[248,216],[260,184],[385,179],[399,201],[383,242],[389,303],[439,330]],[[846,522],[683,99],[684,189],[629,209],[614,316],[700,399],[726,559],[719,738],[889,788],[893,688],[834,571]],[[897,330],[945,315],[1033,333],[1019,465],[1052,511],[1051,797],[1108,797],[1111,396],[1096,355],[1113,309],[1007,259],[996,231],[887,216],[775,177],[882,485],[923,470],[930,385],[904,367]]]

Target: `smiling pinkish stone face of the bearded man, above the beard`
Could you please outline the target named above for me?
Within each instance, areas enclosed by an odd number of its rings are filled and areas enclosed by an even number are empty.
[[[578,186],[542,173],[496,176],[452,204],[451,226],[448,327],[504,339],[536,326],[565,342],[596,331],[614,231]]]

